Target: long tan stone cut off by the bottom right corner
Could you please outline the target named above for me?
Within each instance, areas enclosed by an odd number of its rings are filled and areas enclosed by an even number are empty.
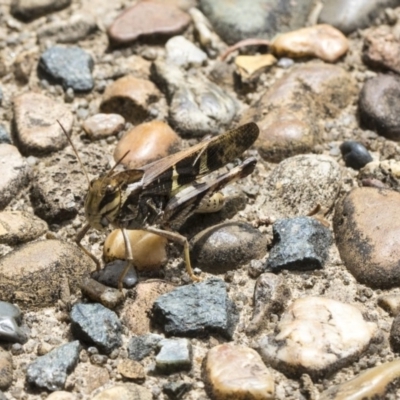
[[[322,392],[319,400],[384,399],[394,389],[390,385],[400,376],[400,361],[378,365],[362,372],[355,378],[331,386]]]

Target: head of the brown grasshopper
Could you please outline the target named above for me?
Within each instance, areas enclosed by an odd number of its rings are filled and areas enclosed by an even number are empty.
[[[89,224],[103,230],[113,222],[121,207],[121,189],[112,177],[93,179],[85,199],[85,216]]]

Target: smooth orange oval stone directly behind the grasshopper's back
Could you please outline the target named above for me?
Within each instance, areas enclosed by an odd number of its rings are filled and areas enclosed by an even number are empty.
[[[132,128],[119,140],[114,160],[118,161],[129,151],[121,163],[129,169],[140,168],[176,152],[180,142],[179,136],[165,122],[146,122]]]

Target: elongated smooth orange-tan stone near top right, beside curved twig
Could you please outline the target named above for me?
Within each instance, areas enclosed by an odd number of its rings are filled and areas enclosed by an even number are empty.
[[[343,33],[326,24],[283,33],[271,42],[271,51],[278,57],[318,57],[327,62],[337,61],[348,49]]]

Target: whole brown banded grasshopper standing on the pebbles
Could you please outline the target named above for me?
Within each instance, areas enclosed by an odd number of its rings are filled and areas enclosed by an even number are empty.
[[[71,139],[65,134],[82,164]],[[193,213],[215,212],[222,208],[224,199],[219,190],[251,174],[257,161],[249,157],[216,178],[207,179],[207,175],[241,156],[258,134],[258,126],[251,122],[139,169],[114,172],[126,153],[104,176],[90,181],[85,172],[89,182],[85,198],[87,223],[77,234],[76,243],[99,269],[97,258],[81,244],[83,237],[90,228],[121,229],[127,264],[119,277],[120,290],[126,273],[133,267],[127,229],[152,232],[182,245],[187,273],[194,281],[200,280],[191,266],[188,240],[173,227],[182,224]]]

